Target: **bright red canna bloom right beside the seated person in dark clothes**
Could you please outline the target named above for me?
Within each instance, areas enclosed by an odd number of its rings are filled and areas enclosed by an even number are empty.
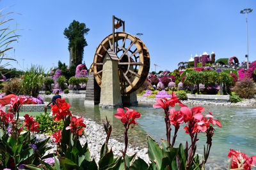
[[[64,120],[67,115],[71,115],[69,108],[70,104],[66,103],[65,99],[56,99],[56,104],[51,105],[52,116],[56,115],[54,121]]]

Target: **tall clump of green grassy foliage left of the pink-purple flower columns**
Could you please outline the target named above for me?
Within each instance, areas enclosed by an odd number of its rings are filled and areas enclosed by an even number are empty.
[[[30,69],[24,73],[24,78],[22,79],[24,94],[33,97],[38,96],[43,83],[43,74],[44,69],[42,66],[36,65],[32,65]]]

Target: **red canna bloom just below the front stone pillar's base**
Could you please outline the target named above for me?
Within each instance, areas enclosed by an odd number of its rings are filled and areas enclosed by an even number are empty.
[[[138,124],[136,122],[135,118],[139,118],[140,113],[138,111],[134,111],[134,110],[129,109],[129,108],[125,108],[125,110],[127,110],[127,111],[124,112],[124,110],[122,108],[118,108],[117,113],[115,113],[115,117],[118,118],[118,119],[121,119],[121,122],[123,124],[128,124],[128,125]]]

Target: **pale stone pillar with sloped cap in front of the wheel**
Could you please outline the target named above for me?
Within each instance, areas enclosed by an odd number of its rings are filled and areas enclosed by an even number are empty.
[[[103,60],[99,106],[102,108],[122,106],[118,74],[118,57],[115,53],[109,51],[106,53]]]

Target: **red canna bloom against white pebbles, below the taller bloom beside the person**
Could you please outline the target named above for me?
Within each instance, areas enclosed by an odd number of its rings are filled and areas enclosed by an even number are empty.
[[[70,129],[72,133],[76,135],[81,135],[83,132],[83,127],[86,127],[86,125],[83,122],[83,117],[71,117],[70,124],[68,127],[66,127],[66,130]]]

